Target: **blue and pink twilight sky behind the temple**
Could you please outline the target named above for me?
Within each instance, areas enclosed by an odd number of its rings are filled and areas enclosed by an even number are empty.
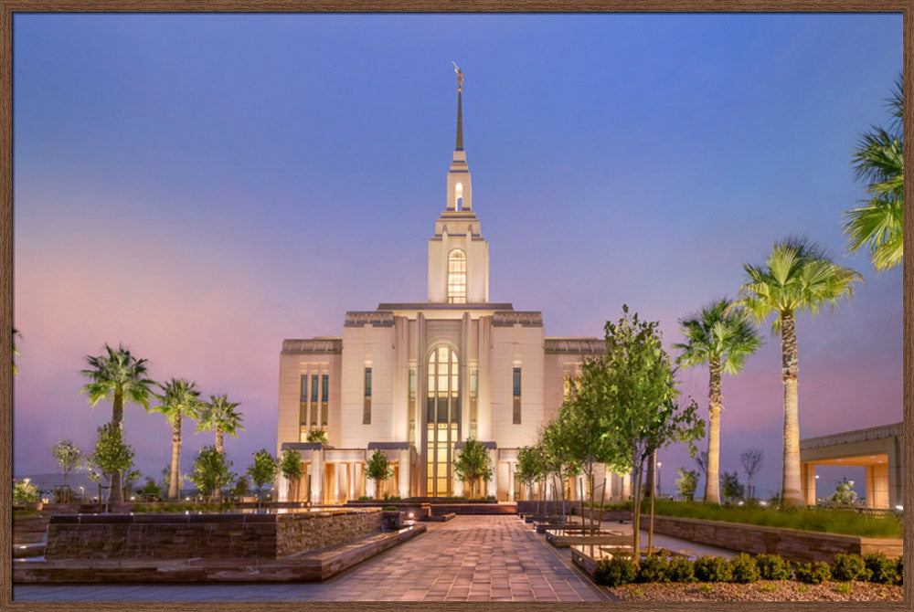
[[[901,43],[900,15],[16,14],[14,474],[56,471],[58,438],[91,448],[111,406],[80,370],[105,343],[239,402],[234,470],[274,451],[282,340],[426,299],[452,60],[492,301],[542,311],[547,336],[601,337],[628,304],[675,356],[680,318],[806,235],[865,284],[798,319],[801,436],[899,422],[900,269],[847,253],[841,224]],[[761,332],[723,381],[721,470],[745,481],[739,454],[762,448],[767,497],[781,353]],[[707,415],[707,368],[679,379]],[[165,418],[128,405],[124,427],[160,478]],[[186,472],[213,434],[185,431]],[[659,459],[664,492],[696,467]],[[862,484],[838,470],[820,497]]]

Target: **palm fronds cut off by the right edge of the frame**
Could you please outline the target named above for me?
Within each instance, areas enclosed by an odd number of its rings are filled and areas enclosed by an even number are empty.
[[[871,196],[863,206],[845,211],[843,230],[849,249],[869,251],[878,270],[901,263],[904,221],[904,155],[901,132],[901,78],[887,100],[892,121],[889,130],[873,126],[860,135],[854,150],[854,174],[866,182]]]

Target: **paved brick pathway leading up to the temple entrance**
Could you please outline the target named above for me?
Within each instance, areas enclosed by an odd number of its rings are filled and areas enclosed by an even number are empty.
[[[15,601],[601,601],[605,589],[516,515],[459,515],[323,583],[22,585]]]

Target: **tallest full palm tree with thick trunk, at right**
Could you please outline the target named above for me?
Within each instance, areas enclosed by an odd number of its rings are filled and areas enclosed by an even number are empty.
[[[839,266],[805,237],[787,237],[776,242],[763,266],[743,264],[747,282],[734,306],[745,306],[758,322],[772,312],[771,333],[781,333],[781,379],[784,384],[784,454],[781,503],[802,506],[800,489],[800,419],[797,396],[796,311],[817,314],[824,306],[853,296],[852,283],[860,275]]]

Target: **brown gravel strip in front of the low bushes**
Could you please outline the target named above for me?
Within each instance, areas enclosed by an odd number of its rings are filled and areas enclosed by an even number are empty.
[[[903,586],[868,582],[804,585],[792,580],[732,583],[666,583],[611,587],[624,601],[902,601]]]

